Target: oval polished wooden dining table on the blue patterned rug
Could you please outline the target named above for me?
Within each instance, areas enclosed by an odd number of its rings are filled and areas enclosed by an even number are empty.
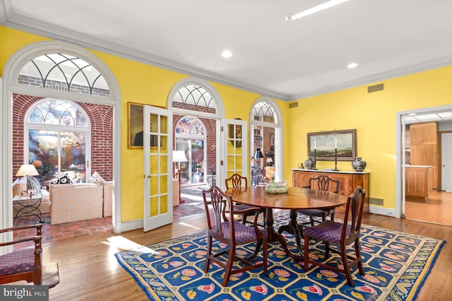
[[[234,201],[251,206],[266,208],[265,226],[268,232],[268,242],[279,242],[285,252],[293,258],[302,261],[303,251],[301,247],[302,233],[297,223],[297,209],[326,209],[337,207],[347,203],[347,196],[335,194],[329,191],[320,191],[316,189],[289,187],[285,194],[268,194],[266,187],[240,187],[231,188],[225,191],[225,194],[232,196]],[[292,253],[287,246],[283,235],[280,235],[273,228],[274,218],[273,209],[289,209],[290,221],[288,232],[295,235],[298,252],[300,255]],[[256,256],[258,250],[251,256]]]

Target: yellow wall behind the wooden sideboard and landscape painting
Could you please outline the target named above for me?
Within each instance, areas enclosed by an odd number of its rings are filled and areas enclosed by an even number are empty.
[[[378,82],[385,90],[367,93],[367,86],[340,90],[298,100],[288,110],[290,122],[285,153],[285,178],[291,168],[307,159],[307,133],[357,129],[357,155],[371,172],[369,196],[383,199],[383,207],[396,208],[396,113],[450,105],[452,66]],[[372,85],[372,84],[369,84]],[[333,161],[319,161],[317,168],[332,168]],[[338,162],[350,170],[350,162]]]

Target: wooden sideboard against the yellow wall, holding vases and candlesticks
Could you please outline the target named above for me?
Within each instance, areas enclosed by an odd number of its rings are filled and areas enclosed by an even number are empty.
[[[369,211],[369,172],[292,169],[292,187],[307,186],[309,178],[319,177],[319,175],[327,175],[339,181],[339,193],[344,196],[350,196],[357,186],[361,186],[366,191],[363,211]],[[344,211],[345,207],[338,209]]]

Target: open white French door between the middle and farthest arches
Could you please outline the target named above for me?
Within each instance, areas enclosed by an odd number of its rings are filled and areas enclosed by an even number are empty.
[[[248,158],[248,145],[246,142],[246,121],[239,119],[224,119],[222,126],[223,135],[223,179],[232,176],[234,173],[247,177],[251,157]],[[248,179],[248,185],[251,183]],[[218,187],[225,189],[225,184],[217,182]],[[220,185],[221,184],[221,185]]]

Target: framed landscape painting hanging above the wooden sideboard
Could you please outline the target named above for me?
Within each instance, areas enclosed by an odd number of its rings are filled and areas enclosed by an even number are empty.
[[[308,157],[316,160],[334,160],[335,150],[338,151],[338,161],[352,161],[357,157],[356,129],[342,131],[319,131],[308,133]]]

